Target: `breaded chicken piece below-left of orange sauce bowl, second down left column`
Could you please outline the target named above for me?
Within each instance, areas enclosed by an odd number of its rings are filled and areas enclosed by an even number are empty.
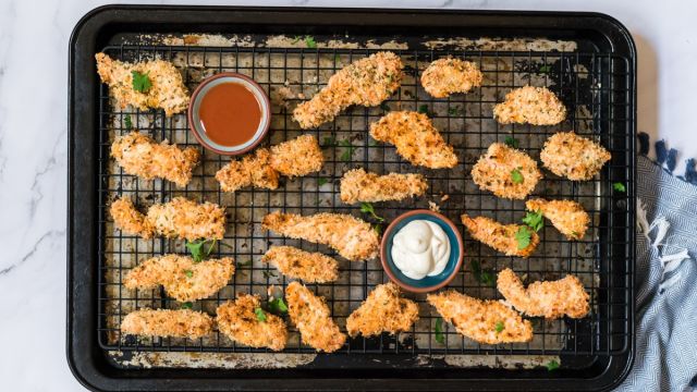
[[[192,179],[199,152],[194,147],[180,149],[167,140],[158,144],[150,137],[132,132],[117,138],[111,156],[127,174],[145,180],[164,179],[184,187]]]

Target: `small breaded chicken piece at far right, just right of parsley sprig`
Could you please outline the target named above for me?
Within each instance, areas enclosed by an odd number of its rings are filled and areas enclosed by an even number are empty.
[[[525,203],[530,211],[540,211],[568,240],[580,240],[588,230],[590,217],[583,206],[573,200],[530,199]]]

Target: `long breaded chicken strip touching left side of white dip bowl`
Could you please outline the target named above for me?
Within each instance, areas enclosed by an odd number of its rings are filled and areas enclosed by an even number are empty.
[[[266,230],[291,238],[325,244],[348,260],[359,261],[378,256],[380,238],[367,222],[345,213],[316,213],[303,217],[274,211],[261,221]]]

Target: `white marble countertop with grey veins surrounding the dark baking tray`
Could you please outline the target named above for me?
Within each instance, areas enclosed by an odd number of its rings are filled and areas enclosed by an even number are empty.
[[[192,1],[187,1],[192,3]],[[4,391],[84,390],[65,360],[68,41],[77,20],[106,3],[0,1],[0,298]],[[158,3],[186,3],[159,1]],[[393,7],[386,0],[212,1],[210,4]],[[697,5],[690,2],[406,0],[404,8],[598,11],[624,23],[638,47],[638,127],[697,157]],[[660,103],[659,103],[660,102]],[[680,169],[678,169],[680,170]]]

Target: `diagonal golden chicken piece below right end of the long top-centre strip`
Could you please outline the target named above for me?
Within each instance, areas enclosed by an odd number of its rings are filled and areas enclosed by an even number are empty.
[[[414,111],[393,111],[370,124],[370,136],[390,143],[396,152],[412,164],[430,169],[452,169],[457,156],[443,140],[426,114]]]

